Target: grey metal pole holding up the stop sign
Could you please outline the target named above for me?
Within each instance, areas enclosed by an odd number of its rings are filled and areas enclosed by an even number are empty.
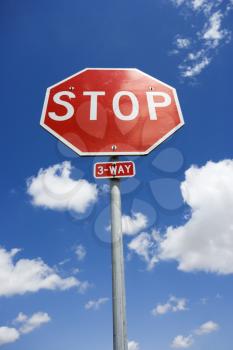
[[[112,161],[117,160],[116,157]],[[128,350],[120,180],[111,179],[113,349]]]

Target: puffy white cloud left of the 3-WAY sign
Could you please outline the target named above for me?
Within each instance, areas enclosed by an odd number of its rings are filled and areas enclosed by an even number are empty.
[[[71,163],[66,161],[40,169],[37,176],[29,178],[27,192],[33,205],[84,213],[97,200],[97,186],[84,179],[72,179],[71,172]]]

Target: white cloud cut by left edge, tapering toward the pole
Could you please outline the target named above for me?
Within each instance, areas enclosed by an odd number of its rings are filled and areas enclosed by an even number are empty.
[[[76,287],[80,292],[88,282],[74,277],[62,278],[40,258],[15,260],[19,249],[7,251],[0,247],[0,296],[37,292],[41,289],[66,290]]]

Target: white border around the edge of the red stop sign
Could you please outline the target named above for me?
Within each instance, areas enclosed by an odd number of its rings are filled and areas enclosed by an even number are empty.
[[[72,145],[69,141],[67,141],[66,139],[64,139],[61,135],[59,135],[58,133],[56,133],[53,129],[51,129],[49,126],[47,126],[44,123],[45,120],[45,116],[46,116],[46,108],[47,108],[47,103],[48,103],[48,99],[49,99],[49,94],[50,94],[50,90],[52,88],[54,88],[57,85],[60,85],[62,83],[64,83],[65,81],[74,78],[76,75],[81,74],[83,72],[86,72],[87,70],[131,70],[131,71],[137,71],[140,72],[141,74],[154,79],[155,81],[159,82],[160,84],[163,84],[165,86],[167,86],[168,88],[172,89],[173,94],[174,94],[174,99],[176,102],[176,106],[177,106],[177,110],[178,110],[178,114],[180,117],[180,123],[173,129],[171,129],[166,135],[164,135],[159,141],[157,141],[156,143],[154,143],[151,147],[149,147],[145,152],[137,152],[137,151],[132,151],[132,152],[117,152],[117,151],[112,151],[112,152],[82,152],[80,151],[78,148],[76,148],[74,145]],[[51,85],[50,87],[47,88],[46,90],[46,95],[45,95],[45,100],[44,100],[44,105],[43,105],[43,109],[42,109],[42,115],[41,115],[41,120],[40,120],[40,125],[46,129],[50,134],[52,134],[53,136],[55,136],[58,140],[60,140],[61,142],[63,142],[67,147],[71,148],[75,153],[77,153],[80,156],[127,156],[127,155],[147,155],[149,154],[151,151],[153,151],[153,149],[155,149],[156,147],[158,147],[161,143],[163,143],[167,138],[169,138],[172,134],[174,134],[177,130],[179,130],[183,125],[185,124],[184,122],[184,118],[183,118],[183,114],[180,108],[180,103],[178,100],[178,96],[176,93],[176,89],[173,88],[172,86],[164,83],[163,81],[147,74],[144,73],[143,71],[141,71],[140,69],[137,68],[85,68],[82,69],[78,72],[76,72],[75,74],[69,76],[68,78],[59,81],[58,83]]]

